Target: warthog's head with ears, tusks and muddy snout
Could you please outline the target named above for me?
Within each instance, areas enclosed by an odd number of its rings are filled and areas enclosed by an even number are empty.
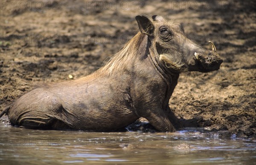
[[[211,41],[209,51],[189,40],[179,23],[166,21],[158,15],[152,16],[152,21],[141,15],[135,18],[140,32],[148,35],[160,65],[175,72],[208,72],[220,68],[223,60]]]

